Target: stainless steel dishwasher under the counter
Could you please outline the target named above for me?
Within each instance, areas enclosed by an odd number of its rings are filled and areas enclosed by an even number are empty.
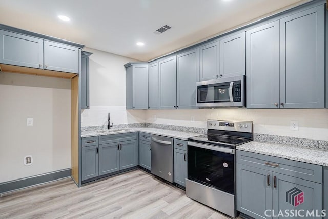
[[[173,183],[173,139],[152,135],[152,173]]]

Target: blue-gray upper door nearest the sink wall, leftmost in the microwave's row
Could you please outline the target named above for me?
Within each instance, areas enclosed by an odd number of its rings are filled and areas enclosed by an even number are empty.
[[[148,65],[132,66],[132,108],[148,109]]]

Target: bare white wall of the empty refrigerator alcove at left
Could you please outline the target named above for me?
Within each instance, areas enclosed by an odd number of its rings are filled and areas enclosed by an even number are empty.
[[[0,112],[0,183],[71,167],[70,79],[0,72]]]

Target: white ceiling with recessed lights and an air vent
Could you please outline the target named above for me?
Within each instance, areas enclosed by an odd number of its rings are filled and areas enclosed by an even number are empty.
[[[0,23],[140,61],[310,0],[0,0]],[[66,15],[70,22],[57,16]],[[160,35],[154,31],[172,27]],[[145,42],[139,47],[136,42]]]

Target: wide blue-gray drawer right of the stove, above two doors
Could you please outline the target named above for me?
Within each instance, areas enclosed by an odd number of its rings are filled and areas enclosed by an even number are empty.
[[[322,166],[237,150],[237,163],[322,183]]]

